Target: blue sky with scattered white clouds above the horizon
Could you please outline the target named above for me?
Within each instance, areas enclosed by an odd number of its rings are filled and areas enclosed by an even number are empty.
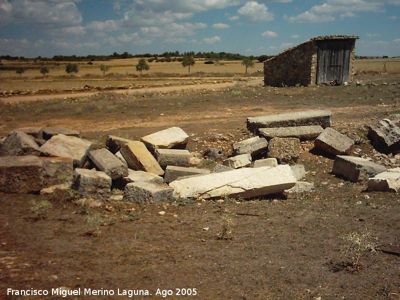
[[[400,0],[0,0],[0,55],[274,55],[333,34],[400,55]]]

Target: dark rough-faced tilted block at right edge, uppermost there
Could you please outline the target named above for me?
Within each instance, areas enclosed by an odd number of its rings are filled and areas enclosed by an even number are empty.
[[[383,152],[400,152],[400,128],[389,119],[380,120],[370,126],[368,137],[372,144]]]

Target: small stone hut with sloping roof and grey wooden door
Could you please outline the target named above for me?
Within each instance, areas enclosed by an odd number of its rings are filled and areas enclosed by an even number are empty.
[[[264,84],[270,86],[342,84],[353,79],[358,36],[318,36],[264,61]]]

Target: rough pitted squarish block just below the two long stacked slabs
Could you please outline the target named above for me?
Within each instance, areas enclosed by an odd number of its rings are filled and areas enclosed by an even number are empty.
[[[268,157],[274,157],[278,162],[296,161],[302,152],[300,140],[295,137],[274,137],[268,142]]]

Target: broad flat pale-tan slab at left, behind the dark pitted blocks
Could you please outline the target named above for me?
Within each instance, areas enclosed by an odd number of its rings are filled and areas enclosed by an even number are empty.
[[[73,165],[80,167],[85,163],[87,152],[90,151],[92,144],[91,141],[83,138],[57,134],[47,140],[40,150],[46,156],[72,158]]]

